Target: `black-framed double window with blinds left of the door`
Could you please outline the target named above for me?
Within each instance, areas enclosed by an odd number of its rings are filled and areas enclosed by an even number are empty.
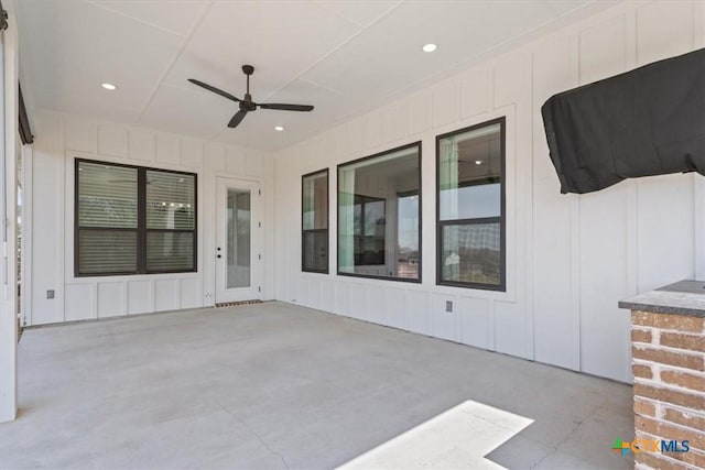
[[[196,271],[196,175],[76,160],[76,276]]]

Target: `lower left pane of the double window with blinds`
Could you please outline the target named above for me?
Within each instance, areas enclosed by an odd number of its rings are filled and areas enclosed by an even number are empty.
[[[78,273],[108,274],[137,272],[137,231],[80,230]]]

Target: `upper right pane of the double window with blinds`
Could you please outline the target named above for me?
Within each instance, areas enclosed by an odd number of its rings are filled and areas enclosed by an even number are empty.
[[[193,230],[195,221],[195,177],[148,170],[147,228]]]

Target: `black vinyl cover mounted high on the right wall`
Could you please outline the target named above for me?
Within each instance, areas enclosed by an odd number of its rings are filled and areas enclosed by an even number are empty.
[[[705,48],[554,95],[541,114],[561,193],[705,175]]]

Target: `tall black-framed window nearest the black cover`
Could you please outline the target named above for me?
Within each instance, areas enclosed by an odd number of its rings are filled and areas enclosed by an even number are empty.
[[[506,289],[505,127],[436,138],[437,284]]]

